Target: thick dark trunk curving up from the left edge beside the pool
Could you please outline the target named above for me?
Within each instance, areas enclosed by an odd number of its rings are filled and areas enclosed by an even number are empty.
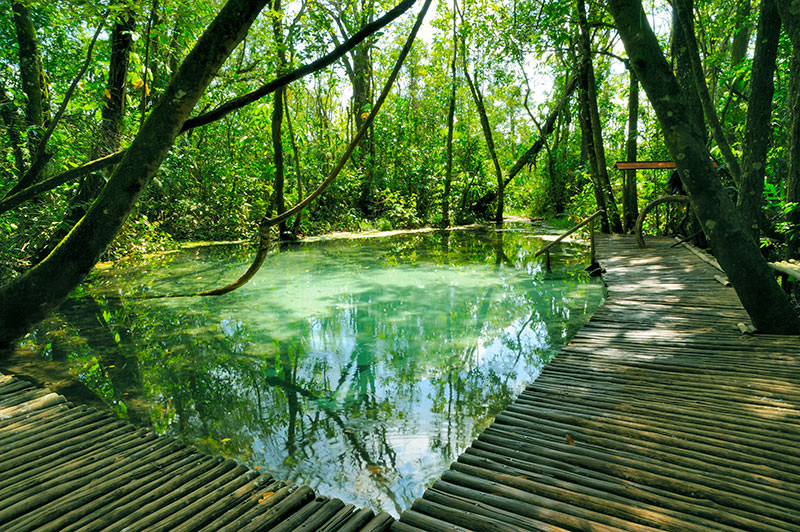
[[[41,263],[0,287],[0,345],[10,345],[88,275],[167,156],[181,126],[266,0],[229,0],[175,73],[106,187]]]

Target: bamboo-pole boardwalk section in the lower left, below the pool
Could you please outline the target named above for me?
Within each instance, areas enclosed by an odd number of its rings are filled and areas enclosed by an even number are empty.
[[[391,522],[0,375],[3,532],[382,532]]]

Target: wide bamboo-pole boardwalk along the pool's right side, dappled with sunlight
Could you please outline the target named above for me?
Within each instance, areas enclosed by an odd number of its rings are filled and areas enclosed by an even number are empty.
[[[605,305],[393,531],[800,530],[800,338],[673,243],[598,239]]]

